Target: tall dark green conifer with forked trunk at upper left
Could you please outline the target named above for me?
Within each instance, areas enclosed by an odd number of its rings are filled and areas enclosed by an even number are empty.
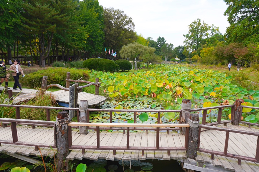
[[[34,43],[40,55],[41,66],[45,67],[45,59],[49,56],[54,33],[58,30],[73,33],[78,29],[75,20],[76,1],[71,0],[25,0],[24,29],[27,34],[34,35]]]

